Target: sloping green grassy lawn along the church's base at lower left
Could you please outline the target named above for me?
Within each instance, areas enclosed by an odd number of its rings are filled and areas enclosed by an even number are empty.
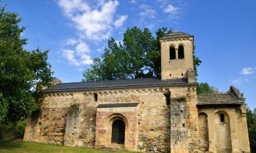
[[[14,139],[12,141],[0,141],[0,152],[17,152],[17,153],[128,153],[126,151],[103,151],[91,148],[73,148],[59,145],[51,145],[44,143],[23,142],[22,139]]]

